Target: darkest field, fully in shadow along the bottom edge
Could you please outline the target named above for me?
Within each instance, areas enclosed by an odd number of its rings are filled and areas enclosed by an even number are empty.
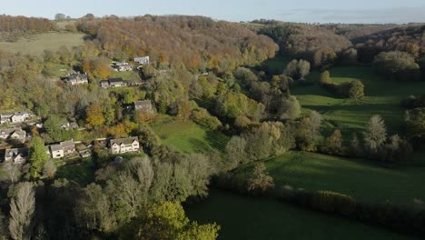
[[[272,199],[219,191],[212,191],[203,203],[189,205],[186,213],[191,220],[221,225],[218,239],[414,239]]]

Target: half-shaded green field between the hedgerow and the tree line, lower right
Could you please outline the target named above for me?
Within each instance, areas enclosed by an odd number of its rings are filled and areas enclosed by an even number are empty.
[[[276,185],[292,185],[307,190],[331,190],[362,201],[410,204],[425,200],[425,168],[385,168],[367,161],[330,155],[293,152],[265,162]],[[252,165],[238,174],[248,176]]]

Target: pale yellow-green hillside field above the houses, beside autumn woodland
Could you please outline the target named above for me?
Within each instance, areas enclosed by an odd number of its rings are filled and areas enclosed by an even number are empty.
[[[13,53],[41,55],[44,50],[57,50],[64,45],[68,48],[84,44],[84,34],[47,33],[23,37],[15,43],[0,42],[0,49]]]

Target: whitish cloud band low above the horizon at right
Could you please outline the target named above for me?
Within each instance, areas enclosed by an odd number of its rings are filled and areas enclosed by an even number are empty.
[[[425,6],[381,9],[293,9],[281,12],[282,20],[294,22],[406,24],[425,22]]]

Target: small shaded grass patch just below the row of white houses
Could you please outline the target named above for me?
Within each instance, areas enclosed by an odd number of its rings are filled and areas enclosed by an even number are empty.
[[[62,165],[58,167],[56,178],[66,178],[85,186],[94,182],[94,160],[84,158],[79,164]]]

